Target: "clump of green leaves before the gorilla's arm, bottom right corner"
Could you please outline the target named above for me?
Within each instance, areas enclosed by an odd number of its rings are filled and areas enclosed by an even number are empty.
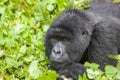
[[[99,65],[96,63],[88,63],[84,64],[87,66],[87,76],[89,79],[94,80],[120,80],[120,66],[114,67],[111,65],[107,65],[104,68],[104,72],[98,69]],[[118,63],[120,65],[120,63]],[[80,79],[86,80],[86,79]]]

